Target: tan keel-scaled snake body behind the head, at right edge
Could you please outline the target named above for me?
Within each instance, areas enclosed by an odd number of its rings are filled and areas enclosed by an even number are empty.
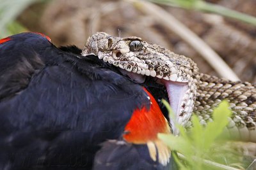
[[[201,73],[193,111],[201,118],[201,123],[205,124],[211,120],[212,109],[227,99],[233,112],[227,126],[230,136],[256,142],[255,87],[248,82],[234,82]]]

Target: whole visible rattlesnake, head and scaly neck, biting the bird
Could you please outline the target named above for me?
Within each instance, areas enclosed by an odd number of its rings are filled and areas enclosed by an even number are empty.
[[[211,121],[212,110],[226,99],[233,113],[226,129],[230,136],[256,142],[256,85],[200,73],[188,57],[134,36],[120,38],[96,32],[86,41],[82,55],[91,53],[120,67],[138,83],[145,76],[156,78],[166,87],[176,121],[185,127],[191,127],[192,113],[201,124]]]

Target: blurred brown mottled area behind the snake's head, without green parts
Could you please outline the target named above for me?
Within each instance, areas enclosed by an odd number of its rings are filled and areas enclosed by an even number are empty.
[[[212,1],[256,16],[256,1]],[[228,63],[243,81],[256,83],[256,28],[227,18],[164,7],[196,32]],[[217,75],[202,57],[154,18],[141,13],[124,1],[56,0],[46,6],[40,19],[42,31],[58,45],[77,45],[83,48],[90,34],[104,31],[118,36],[139,36],[175,53],[193,58],[200,71]],[[33,29],[33,28],[31,28]]]

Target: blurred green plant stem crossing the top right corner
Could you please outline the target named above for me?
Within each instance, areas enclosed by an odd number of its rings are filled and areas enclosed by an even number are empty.
[[[246,22],[248,24],[252,24],[256,26],[256,18],[251,15],[247,15],[235,10],[230,10],[223,6],[207,3],[201,0],[193,0],[193,1],[149,0],[149,1],[158,3],[158,4],[168,5],[168,6],[185,8],[189,10],[198,10],[198,11],[204,11],[209,13],[216,13],[224,17],[234,18],[236,20],[240,20],[242,22]]]

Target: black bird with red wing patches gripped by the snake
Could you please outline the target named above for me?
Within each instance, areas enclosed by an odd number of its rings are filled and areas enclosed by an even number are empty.
[[[0,169],[168,168],[156,135],[170,127],[154,97],[94,55],[49,40],[33,32],[0,40]],[[152,108],[156,127],[143,121]],[[130,131],[147,131],[134,127],[134,113],[153,137],[134,141]]]

